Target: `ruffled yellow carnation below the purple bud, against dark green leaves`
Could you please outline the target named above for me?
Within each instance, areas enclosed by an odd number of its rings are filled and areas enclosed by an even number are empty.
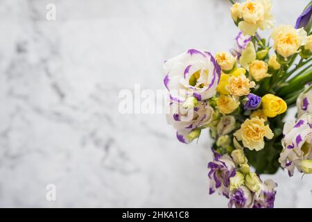
[[[260,151],[264,147],[264,137],[272,139],[272,130],[268,125],[264,125],[264,119],[254,117],[246,119],[241,124],[241,128],[234,133],[237,140],[243,142],[243,146],[251,151]]]

